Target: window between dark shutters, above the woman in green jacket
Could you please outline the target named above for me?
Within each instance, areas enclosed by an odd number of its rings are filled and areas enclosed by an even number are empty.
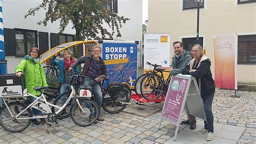
[[[37,47],[37,31],[15,29],[16,55],[29,54],[32,47]]]

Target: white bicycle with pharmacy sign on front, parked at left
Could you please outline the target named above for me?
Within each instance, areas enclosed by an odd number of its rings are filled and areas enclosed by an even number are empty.
[[[80,90],[82,95],[77,95],[75,92],[75,88],[73,85],[77,84],[79,80],[78,74],[71,74],[70,81],[71,84],[71,93],[69,95],[68,100],[66,100],[65,104],[62,107],[56,106],[48,102],[43,94],[43,90],[48,87],[35,87],[34,89],[41,93],[39,97],[32,95],[30,93],[25,93],[23,97],[33,97],[36,98],[35,101],[31,102],[29,106],[22,104],[21,102],[10,102],[6,104],[4,100],[5,106],[0,111],[0,125],[9,132],[21,132],[24,129],[28,128],[31,124],[31,119],[45,119],[47,118],[49,122],[55,122],[58,127],[59,124],[57,122],[57,115],[66,107],[66,105],[70,102],[72,98],[75,98],[75,101],[72,103],[70,109],[70,116],[72,121],[79,126],[89,126],[97,120],[99,116],[99,107],[95,101],[91,100],[91,92],[89,90]],[[83,93],[86,93],[83,95]],[[5,98],[5,97],[3,97]],[[58,109],[57,112],[52,112],[50,106]],[[31,113],[31,107],[39,109],[44,114],[33,115]],[[93,115],[94,119],[89,120],[89,116]],[[46,128],[46,132],[50,133],[48,128]],[[50,124],[48,124],[51,126]]]

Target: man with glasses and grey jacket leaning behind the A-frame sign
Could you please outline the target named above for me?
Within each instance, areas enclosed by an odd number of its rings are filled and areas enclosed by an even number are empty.
[[[183,50],[182,42],[173,43],[174,56],[172,57],[172,64],[170,65],[170,73],[172,76],[181,73],[182,68],[184,68],[188,62],[191,60],[191,55],[189,52]],[[197,121],[193,115],[189,115],[190,120],[181,121],[181,124],[190,124],[190,129],[196,129]]]

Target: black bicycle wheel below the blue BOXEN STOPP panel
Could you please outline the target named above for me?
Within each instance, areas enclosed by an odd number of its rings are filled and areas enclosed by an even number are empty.
[[[127,106],[121,102],[128,101],[129,97],[124,87],[110,87],[103,95],[102,108],[108,113],[119,113]]]

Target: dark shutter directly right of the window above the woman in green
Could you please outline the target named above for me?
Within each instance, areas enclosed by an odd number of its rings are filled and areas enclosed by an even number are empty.
[[[49,50],[49,36],[48,32],[38,32],[39,37],[39,49],[41,53]]]

